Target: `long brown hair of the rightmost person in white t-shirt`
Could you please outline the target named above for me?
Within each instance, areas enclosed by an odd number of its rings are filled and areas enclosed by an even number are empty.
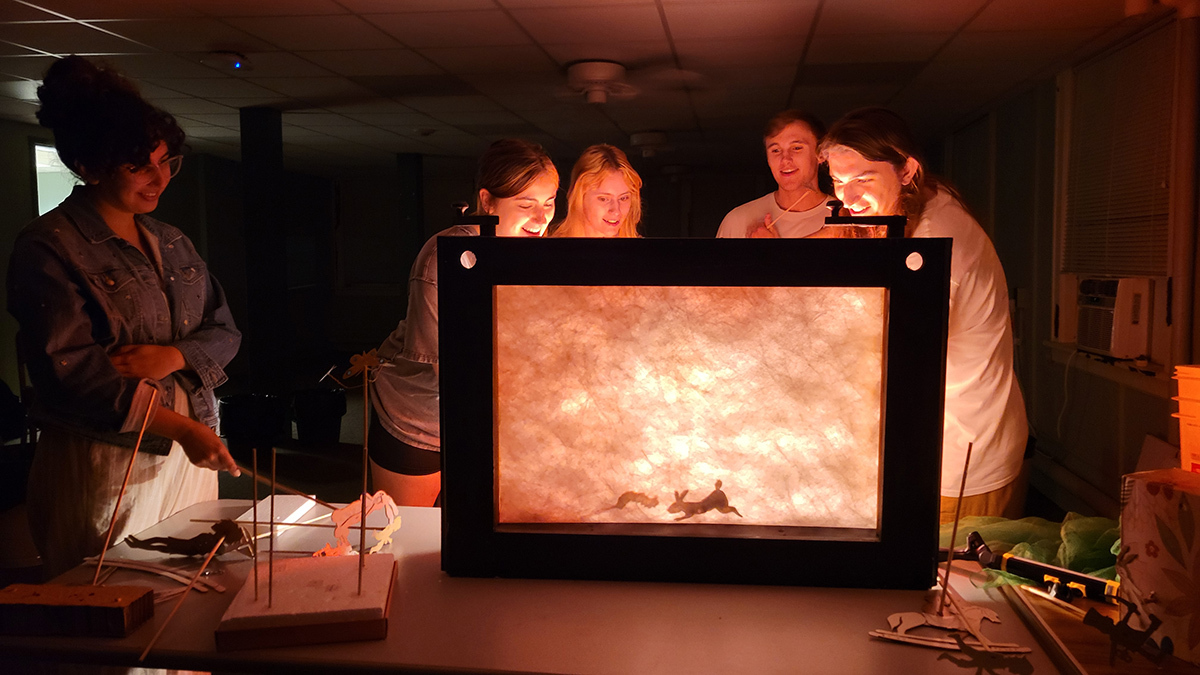
[[[817,148],[817,156],[824,162],[834,148],[847,148],[872,162],[887,162],[896,173],[904,172],[910,157],[917,161],[912,180],[900,187],[900,210],[908,219],[905,235],[912,234],[925,204],[938,190],[959,199],[953,187],[925,171],[925,159],[908,124],[887,108],[859,108],[833,123]]]

